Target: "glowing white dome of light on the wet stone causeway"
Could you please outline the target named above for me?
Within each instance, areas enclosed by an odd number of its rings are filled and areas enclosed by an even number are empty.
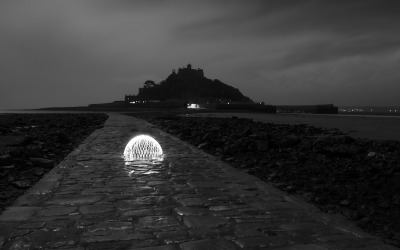
[[[148,135],[138,135],[132,138],[124,150],[126,161],[162,160],[162,154],[160,144]]]

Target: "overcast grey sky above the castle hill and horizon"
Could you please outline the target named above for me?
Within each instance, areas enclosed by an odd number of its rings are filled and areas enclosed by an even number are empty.
[[[189,62],[267,104],[400,105],[400,1],[0,1],[0,109],[122,100]]]

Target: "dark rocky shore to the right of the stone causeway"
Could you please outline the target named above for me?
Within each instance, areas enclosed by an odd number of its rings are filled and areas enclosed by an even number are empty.
[[[400,246],[400,142],[251,119],[133,116]]]

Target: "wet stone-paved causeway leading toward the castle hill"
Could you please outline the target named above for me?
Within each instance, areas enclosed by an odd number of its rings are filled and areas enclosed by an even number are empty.
[[[139,134],[164,151],[126,163]],[[2,249],[397,249],[133,117],[109,114],[0,216]]]

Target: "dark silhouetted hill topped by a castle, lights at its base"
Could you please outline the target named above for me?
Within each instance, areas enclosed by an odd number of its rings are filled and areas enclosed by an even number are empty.
[[[139,88],[137,95],[125,95],[125,105],[129,107],[208,109],[252,109],[276,112],[275,106],[254,103],[234,88],[218,79],[204,76],[203,69],[194,69],[189,63],[172,73],[160,83],[148,80]]]

